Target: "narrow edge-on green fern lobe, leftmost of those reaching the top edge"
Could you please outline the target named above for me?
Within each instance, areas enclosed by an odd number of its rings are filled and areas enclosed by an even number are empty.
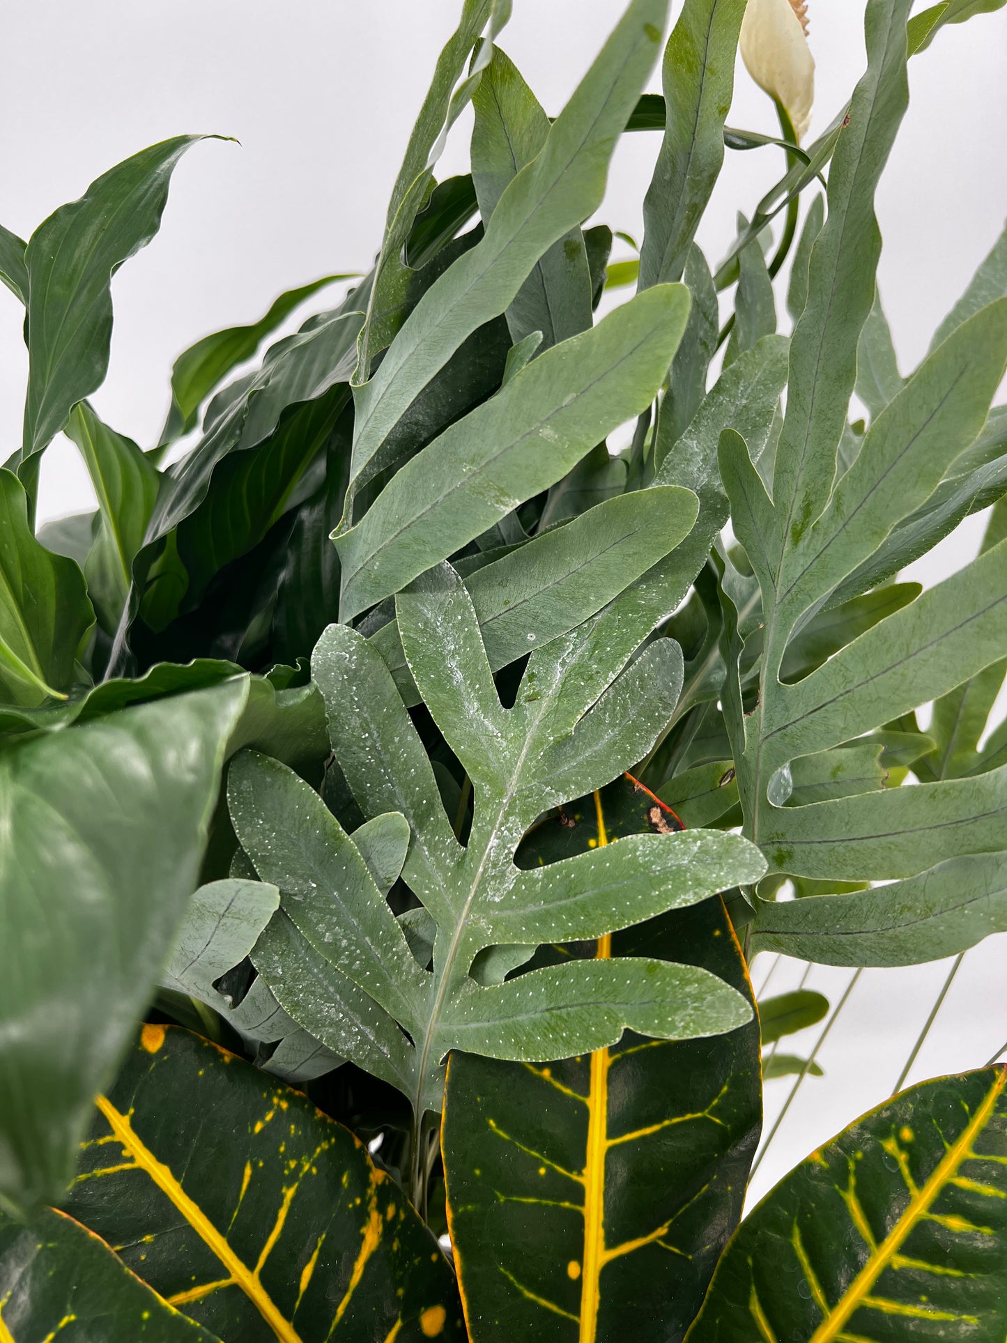
[[[395,337],[408,306],[411,265],[403,252],[412,238],[418,215],[431,204],[432,168],[440,156],[444,137],[478,87],[481,73],[493,52],[493,40],[510,17],[510,5],[501,0],[465,0],[462,17],[444,43],[427,97],[405,146],[399,176],[392,188],[385,219],[384,242],[375,271],[375,282],[368,305],[364,344],[361,348],[360,379],[368,377],[371,361]],[[487,40],[475,54],[466,78],[465,63],[487,28]]]

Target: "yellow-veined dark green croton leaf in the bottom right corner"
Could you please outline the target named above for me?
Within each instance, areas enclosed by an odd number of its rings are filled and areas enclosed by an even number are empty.
[[[689,1343],[999,1339],[1006,1091],[1003,1068],[924,1082],[812,1152],[734,1234]]]

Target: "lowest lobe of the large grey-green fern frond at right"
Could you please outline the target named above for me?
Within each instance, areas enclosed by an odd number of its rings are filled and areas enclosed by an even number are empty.
[[[760,900],[753,947],[826,966],[916,966],[1004,929],[1004,855],[994,851],[855,894]]]

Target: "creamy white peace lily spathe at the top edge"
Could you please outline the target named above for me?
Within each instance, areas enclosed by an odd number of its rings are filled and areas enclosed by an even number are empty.
[[[741,21],[741,59],[759,87],[787,109],[798,141],[815,101],[806,15],[806,0],[748,0]]]

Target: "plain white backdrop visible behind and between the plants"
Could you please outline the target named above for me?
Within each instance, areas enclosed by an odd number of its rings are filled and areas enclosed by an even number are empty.
[[[546,111],[556,114],[620,8],[618,0],[516,0],[501,44]],[[255,320],[283,289],[368,269],[412,120],[458,9],[457,0],[32,0],[9,7],[0,219],[21,236],[148,144],[191,132],[240,141],[207,141],[187,154],[161,234],[114,281],[111,369],[94,398],[110,423],[149,446],[183,348],[209,330]],[[810,3],[818,93],[808,138],[859,77],[862,12],[863,0]],[[1007,11],[941,31],[912,60],[910,85],[910,109],[878,199],[879,285],[902,372],[921,357],[1007,215]],[[651,87],[659,89],[657,74]],[[773,132],[773,120],[768,99],[738,66],[729,124]],[[463,118],[455,129],[439,176],[465,171],[469,125]],[[626,138],[599,214],[638,239],[658,138]],[[734,212],[751,212],[780,172],[779,150],[728,152],[698,239],[710,262],[733,236]],[[20,322],[19,305],[0,290],[0,459],[20,441]],[[93,506],[74,453],[62,441],[47,453],[43,517]],[[967,524],[912,576],[930,583],[960,567],[975,553],[976,537],[976,525]],[[967,956],[914,1078],[983,1064],[1007,1038],[1003,952],[1004,939],[992,939]],[[800,968],[777,970],[772,991],[792,986]],[[756,966],[757,986],[767,970]],[[885,1099],[945,972],[940,964],[862,976],[820,1054],[826,1077],[802,1088],[756,1193]],[[819,967],[810,986],[835,999],[847,980],[847,971]],[[814,1042],[815,1031],[808,1035]],[[807,1049],[808,1042],[798,1038],[784,1048]],[[788,1085],[768,1084],[768,1119]]]

